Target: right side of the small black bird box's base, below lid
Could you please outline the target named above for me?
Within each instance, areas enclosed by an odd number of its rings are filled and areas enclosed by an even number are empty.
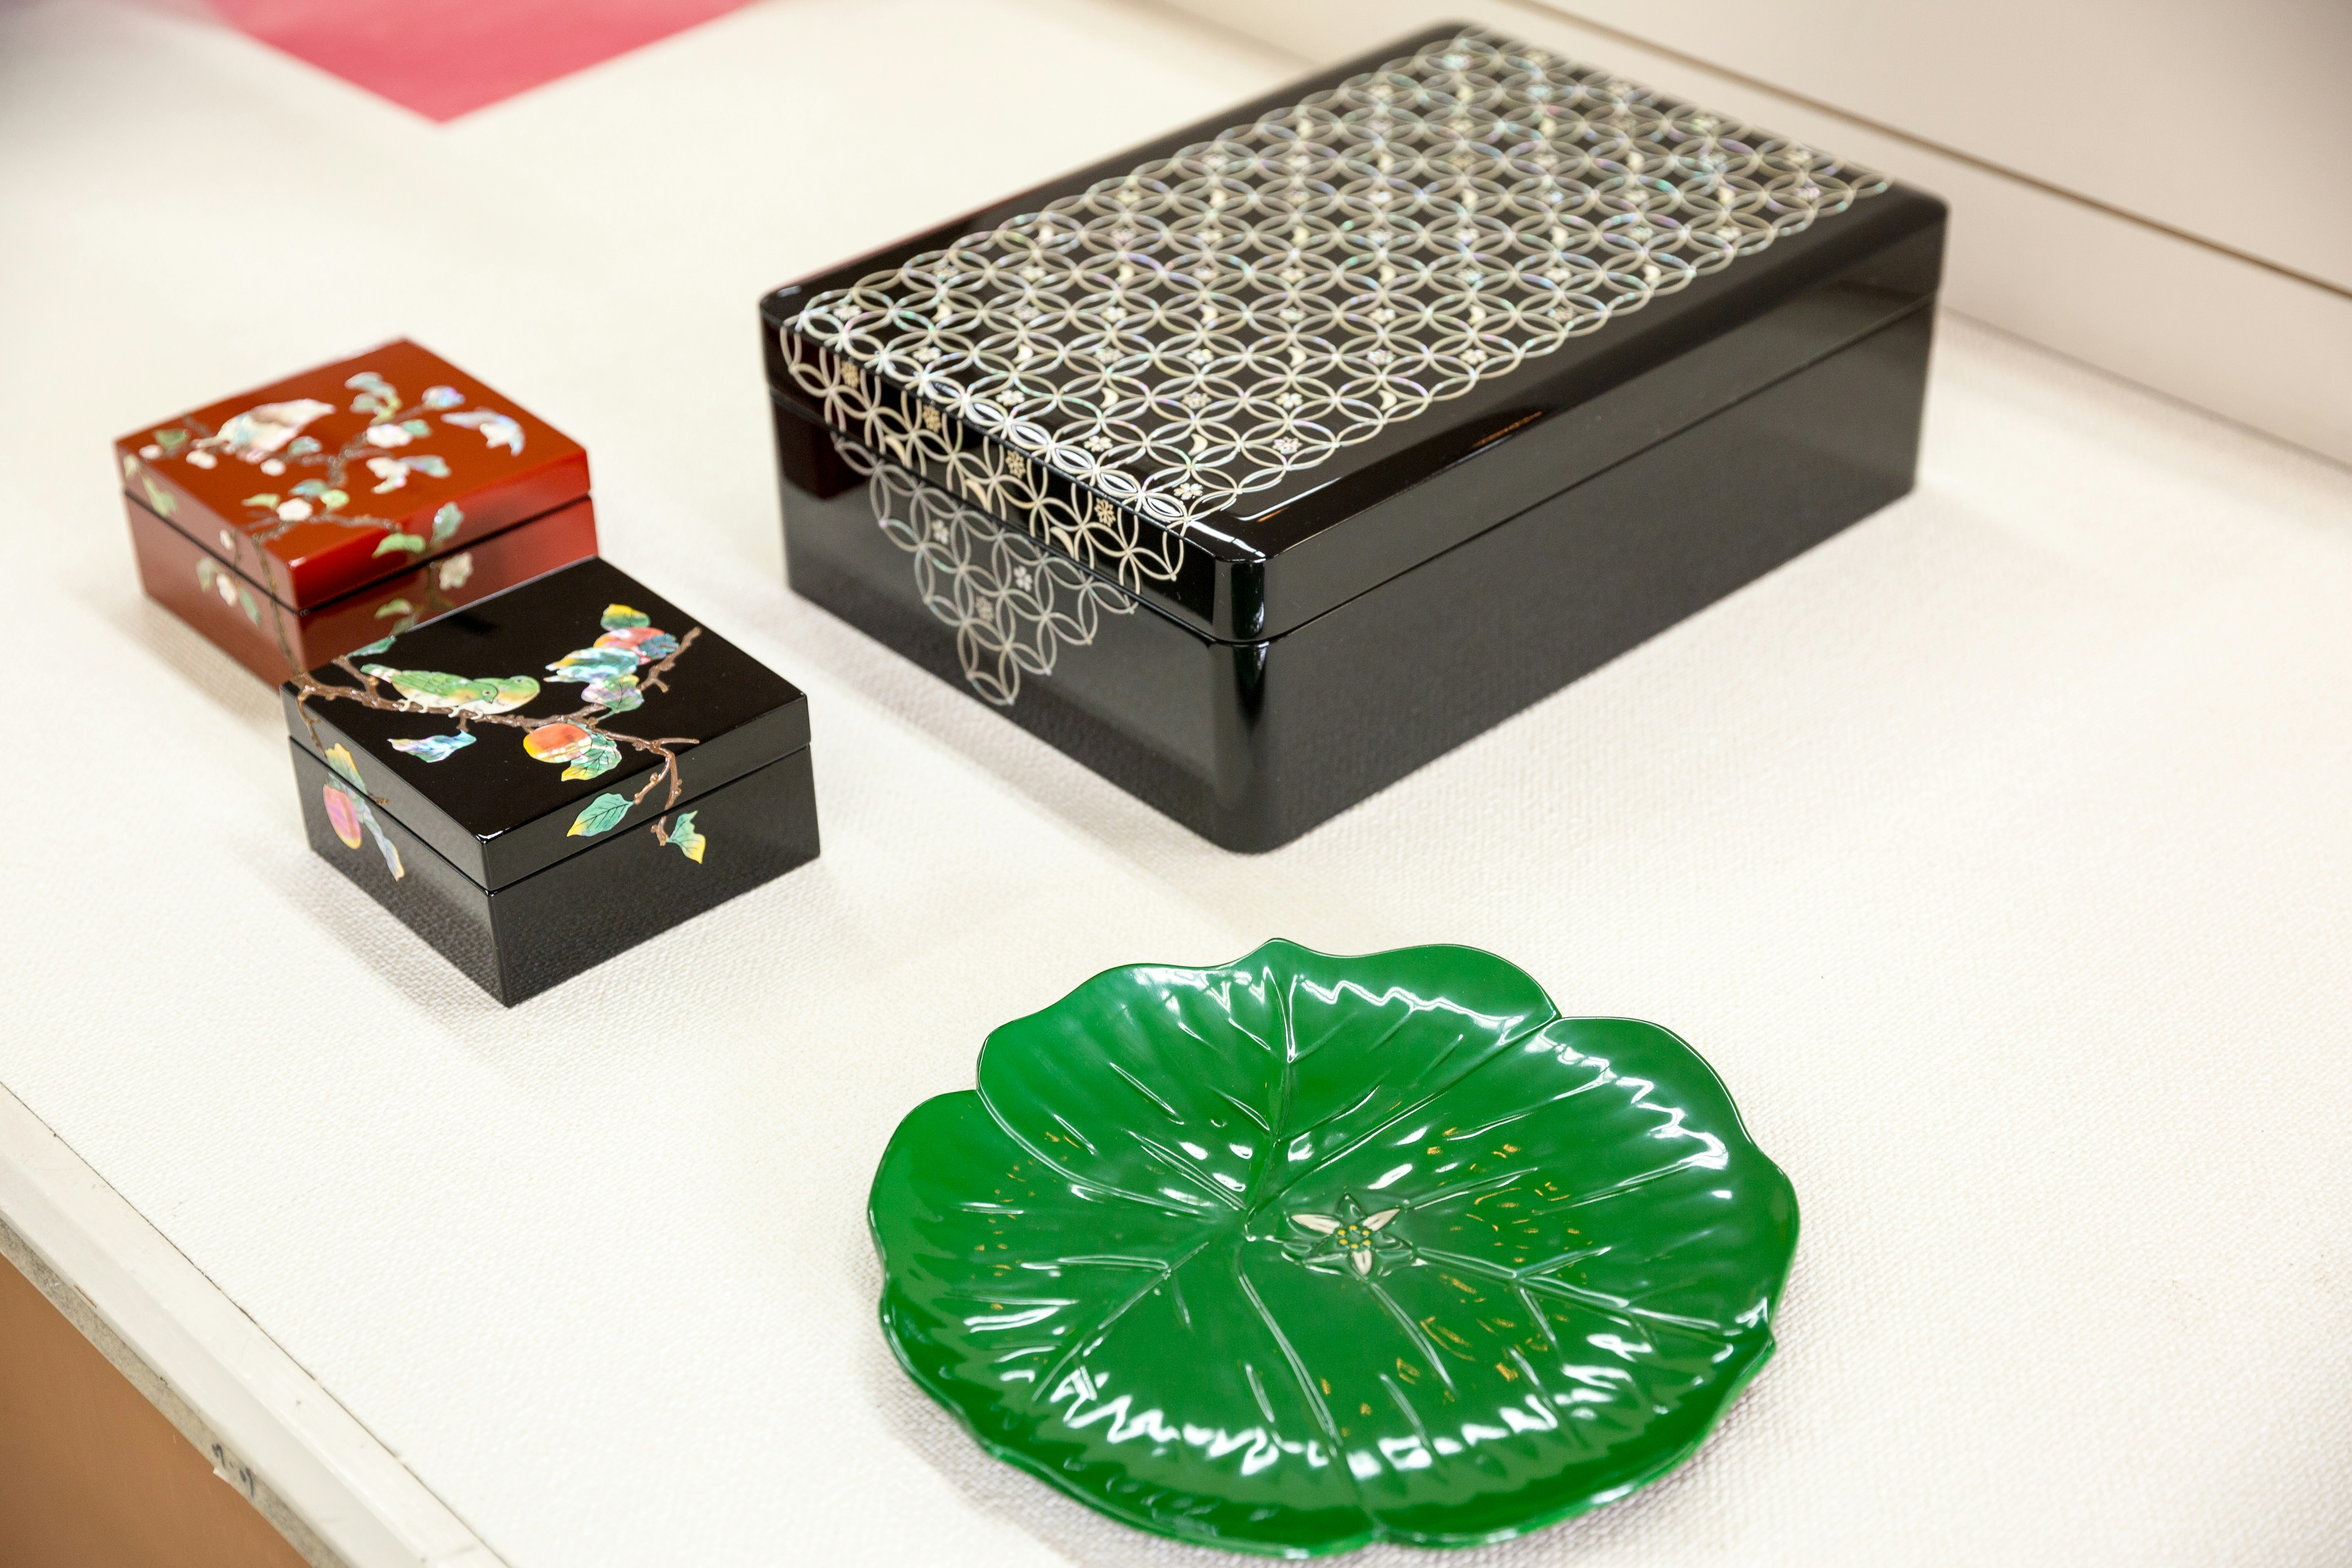
[[[689,820],[691,818],[691,820]],[[630,827],[489,896],[499,999],[513,1006],[680,922],[816,858],[816,773],[802,748],[722,785],[663,823]],[[701,858],[684,846],[701,835]]]

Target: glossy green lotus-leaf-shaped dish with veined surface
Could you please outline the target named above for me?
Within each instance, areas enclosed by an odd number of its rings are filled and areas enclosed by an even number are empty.
[[[1272,1556],[1656,1481],[1797,1248],[1696,1051],[1470,947],[1101,973],[898,1124],[868,1218],[891,1349],[990,1453]]]

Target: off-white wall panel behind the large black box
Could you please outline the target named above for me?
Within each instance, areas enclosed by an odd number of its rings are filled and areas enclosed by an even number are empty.
[[[2352,463],[2345,0],[1174,0],[1336,61],[1446,19],[1952,202],[1945,301]]]

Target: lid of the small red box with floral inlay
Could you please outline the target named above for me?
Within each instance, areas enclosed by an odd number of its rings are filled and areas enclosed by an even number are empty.
[[[588,494],[588,454],[407,339],[115,442],[122,484],[289,609]]]

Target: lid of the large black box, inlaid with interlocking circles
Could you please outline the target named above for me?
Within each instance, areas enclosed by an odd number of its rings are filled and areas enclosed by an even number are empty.
[[[1919,308],[1940,252],[1929,195],[1446,26],[762,317],[835,433],[795,482],[906,468],[1258,639]]]

